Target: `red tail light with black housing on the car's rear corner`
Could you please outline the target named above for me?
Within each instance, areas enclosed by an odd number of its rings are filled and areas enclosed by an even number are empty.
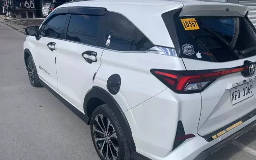
[[[242,72],[248,66],[240,66],[232,69],[198,70],[198,71],[174,71],[164,69],[151,69],[151,73],[177,93],[197,93],[203,91],[217,78]]]

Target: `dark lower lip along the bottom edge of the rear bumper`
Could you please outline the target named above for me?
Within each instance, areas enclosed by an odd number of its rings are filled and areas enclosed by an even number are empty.
[[[212,147],[206,149],[205,151],[202,151],[194,160],[204,160],[207,156],[209,156],[211,153],[218,151],[220,148],[225,147],[229,143],[231,143],[233,140],[238,138],[240,135],[248,132],[256,125],[256,120],[252,121],[247,126],[243,127],[241,130],[238,130],[234,134],[230,135],[228,138],[225,138],[223,141],[213,145]]]

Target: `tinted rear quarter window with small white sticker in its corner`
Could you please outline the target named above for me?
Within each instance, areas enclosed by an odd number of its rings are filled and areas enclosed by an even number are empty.
[[[153,47],[149,39],[119,13],[108,12],[105,34],[106,48],[118,51],[146,51]]]

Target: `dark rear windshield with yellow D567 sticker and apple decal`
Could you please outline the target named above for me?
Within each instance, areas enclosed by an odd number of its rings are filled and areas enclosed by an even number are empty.
[[[256,55],[256,34],[248,18],[175,17],[174,25],[181,57],[227,62]]]

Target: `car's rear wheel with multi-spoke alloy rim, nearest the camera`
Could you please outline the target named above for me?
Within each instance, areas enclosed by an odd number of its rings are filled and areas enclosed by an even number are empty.
[[[92,113],[91,138],[101,160],[128,159],[129,149],[123,137],[123,130],[107,104],[97,107]]]

